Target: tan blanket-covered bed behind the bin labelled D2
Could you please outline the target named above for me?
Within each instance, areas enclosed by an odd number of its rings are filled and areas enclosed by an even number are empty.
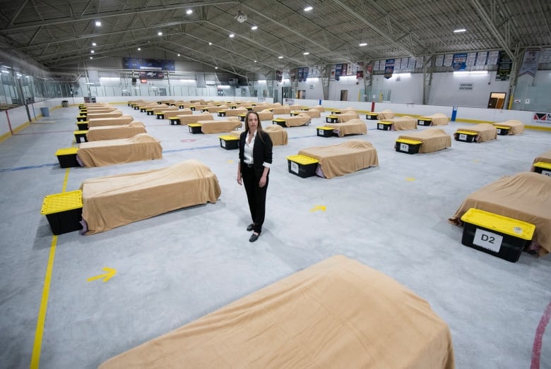
[[[551,178],[531,171],[504,176],[476,190],[463,200],[451,224],[471,207],[535,225],[531,250],[543,256],[551,252]]]

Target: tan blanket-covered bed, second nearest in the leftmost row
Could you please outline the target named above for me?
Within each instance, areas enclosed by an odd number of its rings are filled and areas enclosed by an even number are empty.
[[[139,133],[131,138],[81,143],[76,156],[84,167],[104,167],[112,164],[161,159],[162,147],[157,139],[147,133]]]

